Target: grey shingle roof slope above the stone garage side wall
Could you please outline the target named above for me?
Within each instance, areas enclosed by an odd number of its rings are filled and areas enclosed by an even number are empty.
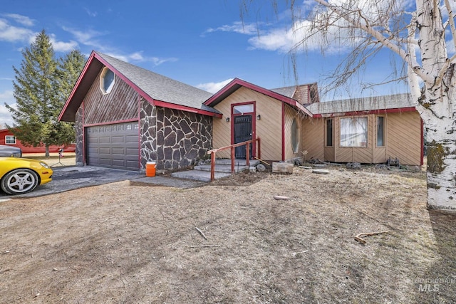
[[[95,53],[154,100],[218,113],[214,108],[203,104],[212,96],[209,92],[140,68],[137,65],[120,61],[112,56],[99,52]]]

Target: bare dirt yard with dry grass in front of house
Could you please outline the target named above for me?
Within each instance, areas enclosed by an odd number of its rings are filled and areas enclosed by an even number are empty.
[[[0,302],[455,303],[455,236],[423,172],[118,182],[0,203]]]

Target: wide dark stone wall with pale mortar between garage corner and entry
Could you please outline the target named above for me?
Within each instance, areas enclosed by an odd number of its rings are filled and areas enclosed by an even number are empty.
[[[212,147],[212,117],[157,108],[157,169],[179,169],[207,157]]]

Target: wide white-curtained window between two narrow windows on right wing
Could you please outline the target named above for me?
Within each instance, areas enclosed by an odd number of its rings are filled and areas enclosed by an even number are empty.
[[[341,147],[368,146],[368,117],[341,118]]]

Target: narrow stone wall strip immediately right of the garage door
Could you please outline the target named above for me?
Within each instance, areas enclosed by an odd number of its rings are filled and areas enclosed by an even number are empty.
[[[157,160],[157,108],[143,98],[141,105],[140,154],[141,169],[145,169],[146,162]]]

